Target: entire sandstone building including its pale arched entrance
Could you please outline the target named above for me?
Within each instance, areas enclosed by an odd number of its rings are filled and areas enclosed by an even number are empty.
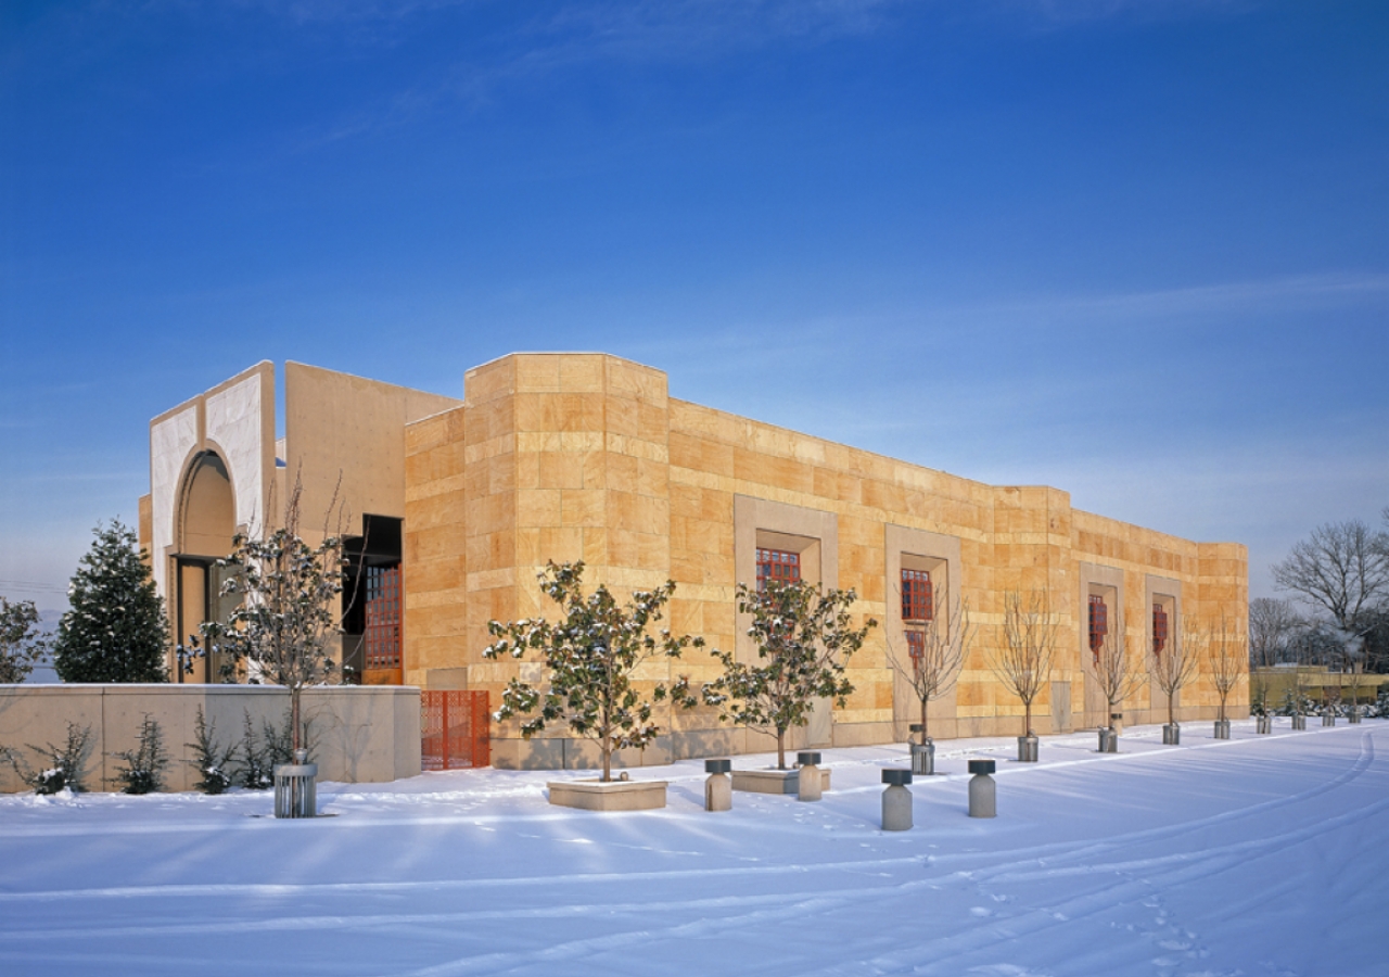
[[[1071,507],[1060,489],[995,486],[676,400],[660,370],[590,353],[518,353],[469,370],[465,399],[289,363],[285,425],[263,363],[150,422],[150,495],[140,535],[175,638],[225,613],[214,560],[254,529],[297,477],[304,513],[346,503],[353,585],[343,659],[365,682],[486,689],[536,666],[488,662],[489,620],[547,611],[536,574],[582,559],[589,584],[619,595],[674,580],[668,623],[711,646],[746,648],[733,593],[760,573],[853,588],[881,627],[849,663],[843,709],[820,707],[800,744],[900,742],[917,706],[892,660],[910,667],[911,593],[968,602],[976,625],[956,687],[932,705],[940,738],[1021,732],[1022,707],[989,667],[1010,591],[1043,595],[1060,653],[1039,699],[1039,732],[1097,727],[1096,628],[1147,649],[1183,618],[1221,620],[1243,642],[1247,557]],[[329,527],[336,528],[336,527]],[[904,599],[906,596],[906,599]],[[1242,646],[1242,645],[1240,645]],[[189,681],[203,681],[207,666]],[[713,678],[693,652],[651,682]],[[1235,712],[1247,710],[1247,688]],[[1204,668],[1182,720],[1214,716]],[[1128,723],[1161,721],[1143,685]],[[669,732],[625,763],[772,748],[710,710],[664,712]],[[561,730],[522,741],[493,730],[496,766],[592,763]]]

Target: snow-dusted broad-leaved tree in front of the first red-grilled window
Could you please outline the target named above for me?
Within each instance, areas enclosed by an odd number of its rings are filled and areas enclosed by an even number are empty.
[[[768,581],[761,591],[738,585],[738,610],[751,614],[747,632],[757,643],[757,663],[713,650],[724,674],[704,685],[703,698],[720,706],[720,719],[775,734],[781,770],[786,732],[810,721],[815,699],[843,707],[853,695],[845,667],[878,625],[868,618],[853,627],[849,611],[857,599],[853,589],[822,592],[807,581]]]

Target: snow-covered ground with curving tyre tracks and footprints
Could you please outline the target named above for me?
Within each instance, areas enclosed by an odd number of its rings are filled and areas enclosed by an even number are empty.
[[[1036,766],[943,742],[903,834],[901,746],[825,750],[820,803],[718,814],[697,760],[633,771],[669,806],[626,814],[501,770],[326,784],[311,821],[267,794],[7,796],[0,973],[1389,974],[1389,723],[1315,723],[1050,737]],[[970,819],[989,756],[999,817]]]

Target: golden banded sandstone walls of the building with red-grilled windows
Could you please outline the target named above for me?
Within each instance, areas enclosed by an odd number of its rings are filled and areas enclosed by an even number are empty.
[[[338,374],[319,374],[326,371],[313,374],[318,388],[343,386],[331,379]],[[758,546],[799,553],[804,577],[853,588],[858,617],[882,625],[850,662],[857,691],[847,705],[817,714],[793,746],[906,738],[915,706],[890,656],[904,656],[896,581],[908,566],[931,570],[938,586],[967,600],[976,624],[958,684],[932,706],[938,737],[1022,732],[1021,705],[989,667],[1010,591],[1045,593],[1061,628],[1051,684],[1035,707],[1039,732],[1104,720],[1088,646],[1092,593],[1110,602],[1111,623],[1124,628],[1131,648],[1147,648],[1154,603],[1170,610],[1174,632],[1183,618],[1204,627],[1224,618],[1243,648],[1247,557],[1239,543],[1181,539],[1072,509],[1060,489],[985,485],[676,400],[664,372],[614,356],[513,354],[469,370],[464,393],[461,402],[397,395],[390,403],[404,404],[393,409],[399,420],[369,431],[372,445],[399,431],[400,448],[382,453],[379,464],[363,456],[350,431],[331,438],[318,431],[315,445],[331,450],[301,448],[296,456],[311,463],[315,485],[331,479],[336,457],[351,456],[364,473],[343,481],[356,511],[390,509],[390,485],[400,486],[400,680],[408,685],[488,689],[497,702],[514,674],[538,677],[536,666],[488,662],[482,649],[488,621],[547,613],[536,586],[547,560],[582,559],[588,582],[619,593],[674,580],[672,631],[754,653],[740,638],[733,595],[739,581],[754,580]],[[419,417],[424,409],[433,413]],[[306,411],[313,414],[313,406],[288,409],[296,417]],[[325,418],[318,427],[332,431],[333,424]],[[372,500],[354,502],[356,481],[367,473]],[[164,473],[163,484],[176,485],[176,478]],[[156,504],[150,521],[158,518],[178,516],[161,516]],[[650,667],[644,678],[654,684],[676,673],[713,678],[717,663],[692,652]],[[1203,668],[1182,692],[1179,719],[1211,717],[1215,703]],[[1247,712],[1247,684],[1232,707]],[[1145,685],[1124,712],[1126,723],[1161,721],[1165,702]],[[668,735],[618,762],[772,745],[765,735],[722,725],[711,710],[663,710],[661,724]],[[596,749],[560,730],[526,742],[514,724],[494,728],[492,749],[497,766],[596,760]]]

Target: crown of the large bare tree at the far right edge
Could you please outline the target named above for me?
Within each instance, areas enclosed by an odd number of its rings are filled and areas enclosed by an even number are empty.
[[[1356,634],[1389,599],[1389,543],[1383,532],[1360,520],[1318,525],[1272,571],[1281,591],[1325,610],[1336,627]]]

